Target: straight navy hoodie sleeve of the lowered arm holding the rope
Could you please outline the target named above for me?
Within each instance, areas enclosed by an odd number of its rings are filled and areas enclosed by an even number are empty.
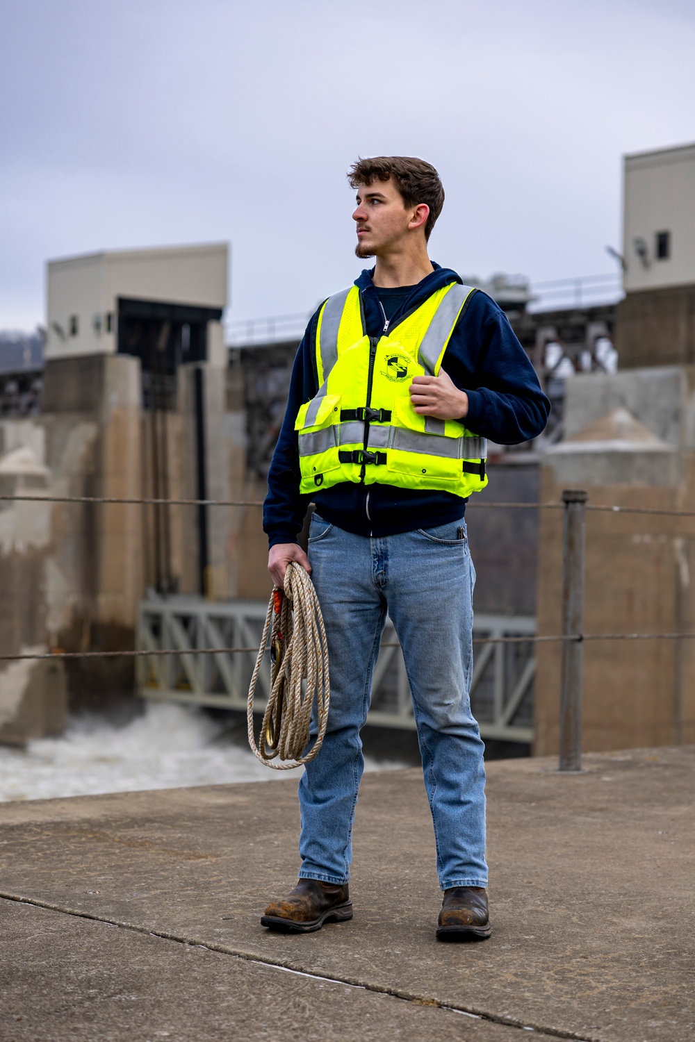
[[[295,419],[300,405],[313,398],[318,388],[314,363],[316,323],[319,312],[306,327],[290,377],[288,404],[273,458],[268,471],[268,495],[263,504],[263,530],[269,547],[296,543],[304,523],[311,496],[299,492],[299,448]]]

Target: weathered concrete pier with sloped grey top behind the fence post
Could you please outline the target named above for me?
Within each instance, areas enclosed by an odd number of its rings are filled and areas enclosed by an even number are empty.
[[[590,504],[695,510],[692,366],[567,381],[566,438],[545,456],[541,501],[586,489]],[[586,634],[695,632],[692,522],[589,513]],[[541,514],[538,631],[559,634],[562,512]],[[695,642],[585,644],[587,749],[695,741]],[[561,645],[538,648],[535,750],[557,748]]]

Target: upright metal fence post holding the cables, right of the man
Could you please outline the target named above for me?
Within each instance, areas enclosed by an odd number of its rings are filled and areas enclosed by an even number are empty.
[[[580,636],[584,629],[584,549],[587,529],[587,493],[563,492],[563,637]],[[581,770],[581,666],[584,643],[563,641],[560,693],[560,770]]]

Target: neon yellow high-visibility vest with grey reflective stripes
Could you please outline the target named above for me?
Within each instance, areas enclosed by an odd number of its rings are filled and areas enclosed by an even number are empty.
[[[414,376],[438,375],[474,292],[457,282],[437,290],[380,337],[364,332],[356,286],[326,300],[316,334],[319,392],[295,422],[301,492],[343,481],[456,496],[486,487],[486,439],[457,420],[418,415],[408,392]]]

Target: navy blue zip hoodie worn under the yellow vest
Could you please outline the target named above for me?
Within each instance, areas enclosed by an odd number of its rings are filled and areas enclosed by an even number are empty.
[[[383,313],[372,274],[373,269],[363,271],[355,286],[362,293],[365,331],[370,337],[379,337],[383,331]],[[392,322],[415,311],[436,290],[461,281],[450,268],[435,265],[435,271],[413,288]],[[451,492],[345,481],[311,495],[300,495],[299,451],[294,424],[299,406],[318,391],[316,324],[319,311],[312,317],[297,351],[288,407],[268,472],[263,527],[269,545],[297,542],[309,501],[316,503],[317,511],[326,521],[358,536],[393,536],[415,528],[432,528],[462,518],[466,500]],[[469,297],[442,365],[456,387],[468,395],[465,422],[469,430],[498,445],[517,445],[543,431],[550,403],[504,312],[479,290]]]

